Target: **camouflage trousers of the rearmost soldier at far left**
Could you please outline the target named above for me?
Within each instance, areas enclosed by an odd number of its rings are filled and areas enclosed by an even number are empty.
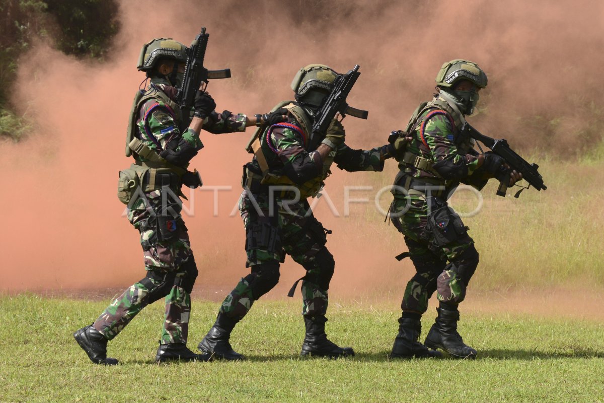
[[[178,211],[173,211],[174,217],[170,217],[175,222],[166,224],[173,229],[174,234],[169,239],[164,239],[156,217],[161,192],[156,190],[146,193],[146,197],[144,204],[137,201],[134,208],[129,209],[128,219],[140,231],[147,276],[115,298],[97,318],[94,327],[111,340],[145,306],[165,297],[161,343],[186,344],[191,310],[190,293],[197,277],[187,228],[176,207]],[[162,220],[165,221],[170,220]]]

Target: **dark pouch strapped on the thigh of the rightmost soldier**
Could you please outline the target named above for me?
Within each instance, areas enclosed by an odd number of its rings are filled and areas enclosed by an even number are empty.
[[[432,243],[436,247],[444,247],[455,240],[467,237],[469,228],[463,225],[460,216],[451,207],[442,203],[433,203],[426,230],[432,234]]]

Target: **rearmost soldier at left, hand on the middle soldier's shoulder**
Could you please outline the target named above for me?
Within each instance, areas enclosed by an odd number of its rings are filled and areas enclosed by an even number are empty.
[[[186,346],[191,306],[190,293],[198,275],[187,228],[180,211],[181,185],[201,185],[188,172],[188,161],[203,147],[199,131],[214,134],[245,131],[255,124],[243,114],[214,111],[216,103],[198,91],[190,126],[181,130],[182,117],[175,103],[176,88],[184,73],[186,47],[172,39],[154,39],[143,46],[138,70],[150,85],[137,91],[130,114],[126,156],[135,164],[120,172],[118,196],[128,204],[127,216],[140,232],[147,275],[126,289],[90,326],[74,334],[93,363],[114,365],[106,346],[138,312],[165,297],[165,320],[156,361],[203,360],[209,356]],[[140,185],[139,185],[140,184]]]

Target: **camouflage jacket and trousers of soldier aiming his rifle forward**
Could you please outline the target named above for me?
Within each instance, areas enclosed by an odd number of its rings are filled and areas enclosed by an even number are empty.
[[[437,99],[446,102],[442,96]],[[390,210],[393,224],[405,236],[417,271],[406,286],[401,308],[418,314],[426,312],[434,291],[437,291],[439,301],[452,304],[463,301],[467,282],[478,263],[478,254],[467,227],[448,207],[446,200],[460,182],[478,189],[486,183],[482,179],[484,172],[477,169],[474,143],[457,135],[454,121],[448,115],[433,114],[435,109],[439,108],[434,106],[419,115],[406,152],[421,156],[437,167],[448,161],[457,169],[454,174],[457,177],[444,179],[434,165],[426,170],[400,162]],[[430,195],[422,186],[431,190]],[[429,218],[436,213],[439,222],[435,226],[428,225]]]

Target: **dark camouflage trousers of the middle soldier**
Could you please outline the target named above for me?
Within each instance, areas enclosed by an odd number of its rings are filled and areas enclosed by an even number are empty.
[[[324,315],[335,262],[325,247],[326,231],[308,202],[288,204],[280,198],[269,202],[266,193],[252,195],[244,190],[239,211],[246,231],[246,267],[251,273],[226,296],[220,312],[241,320],[255,300],[277,285],[279,265],[288,254],[306,269],[306,276],[300,279],[302,314]]]

